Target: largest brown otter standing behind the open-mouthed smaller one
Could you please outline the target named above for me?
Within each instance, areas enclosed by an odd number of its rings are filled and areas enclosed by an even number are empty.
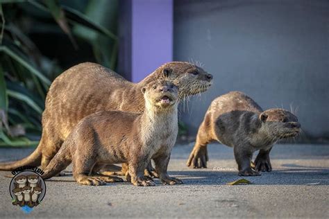
[[[103,110],[143,112],[140,90],[149,82],[167,78],[179,87],[179,98],[206,91],[212,75],[189,62],[168,62],[139,83],[128,82],[114,71],[90,62],[71,67],[49,88],[42,114],[42,137],[28,157],[0,164],[0,170],[31,165],[46,168],[62,142],[81,119]]]

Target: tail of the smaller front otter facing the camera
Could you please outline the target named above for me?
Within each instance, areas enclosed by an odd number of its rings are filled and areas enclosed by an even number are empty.
[[[47,168],[44,170],[42,178],[49,179],[57,175],[58,173],[60,173],[60,171],[64,170],[67,166],[69,166],[69,164],[71,164],[71,161],[71,152],[69,150],[69,147],[67,146],[67,143],[64,143],[55,155],[55,157],[51,159]]]

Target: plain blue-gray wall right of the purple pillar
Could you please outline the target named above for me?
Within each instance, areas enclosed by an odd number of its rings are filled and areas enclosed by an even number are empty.
[[[174,60],[202,62],[214,84],[181,114],[195,134],[211,101],[243,91],[263,109],[290,105],[329,137],[329,1],[175,1]]]

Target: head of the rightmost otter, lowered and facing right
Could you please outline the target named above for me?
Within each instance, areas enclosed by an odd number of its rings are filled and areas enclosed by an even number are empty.
[[[267,109],[260,114],[262,127],[273,140],[295,137],[301,131],[297,117],[285,109]]]

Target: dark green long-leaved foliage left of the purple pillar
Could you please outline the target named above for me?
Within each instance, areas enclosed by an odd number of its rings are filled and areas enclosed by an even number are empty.
[[[86,60],[115,69],[117,6],[118,0],[0,1],[0,146],[38,143],[47,89],[63,69]]]

